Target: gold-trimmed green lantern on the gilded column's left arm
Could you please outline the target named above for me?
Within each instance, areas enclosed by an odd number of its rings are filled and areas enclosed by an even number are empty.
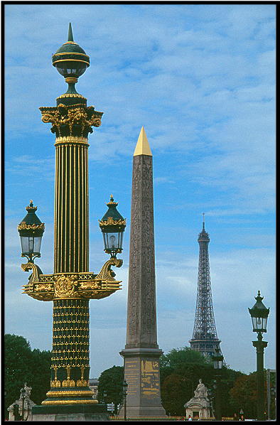
[[[33,263],[35,257],[41,257],[41,241],[45,230],[45,223],[36,215],[37,207],[33,201],[26,207],[27,214],[18,225],[18,233],[21,237],[21,257],[28,258]]]

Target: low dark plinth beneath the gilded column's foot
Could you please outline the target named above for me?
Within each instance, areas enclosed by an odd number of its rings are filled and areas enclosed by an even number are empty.
[[[32,421],[109,421],[104,404],[33,406]]]

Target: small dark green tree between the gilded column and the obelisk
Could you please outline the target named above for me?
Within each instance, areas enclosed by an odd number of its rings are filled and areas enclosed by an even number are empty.
[[[104,370],[99,376],[99,402],[114,403],[114,413],[117,414],[118,404],[122,403],[122,382],[124,381],[124,367],[113,366]],[[107,394],[106,397],[104,394]]]

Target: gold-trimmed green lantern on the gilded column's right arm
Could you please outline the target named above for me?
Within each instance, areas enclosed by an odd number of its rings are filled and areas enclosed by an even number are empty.
[[[108,210],[99,221],[99,226],[102,230],[104,240],[104,251],[111,254],[111,257],[116,257],[118,252],[122,252],[122,240],[126,220],[117,210],[117,202],[114,202],[113,195],[106,204]]]

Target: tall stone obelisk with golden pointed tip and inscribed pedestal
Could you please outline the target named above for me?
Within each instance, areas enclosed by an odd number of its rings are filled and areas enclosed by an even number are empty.
[[[126,345],[120,353],[128,417],[166,414],[159,377],[162,353],[156,332],[153,156],[142,127],[133,158]]]

